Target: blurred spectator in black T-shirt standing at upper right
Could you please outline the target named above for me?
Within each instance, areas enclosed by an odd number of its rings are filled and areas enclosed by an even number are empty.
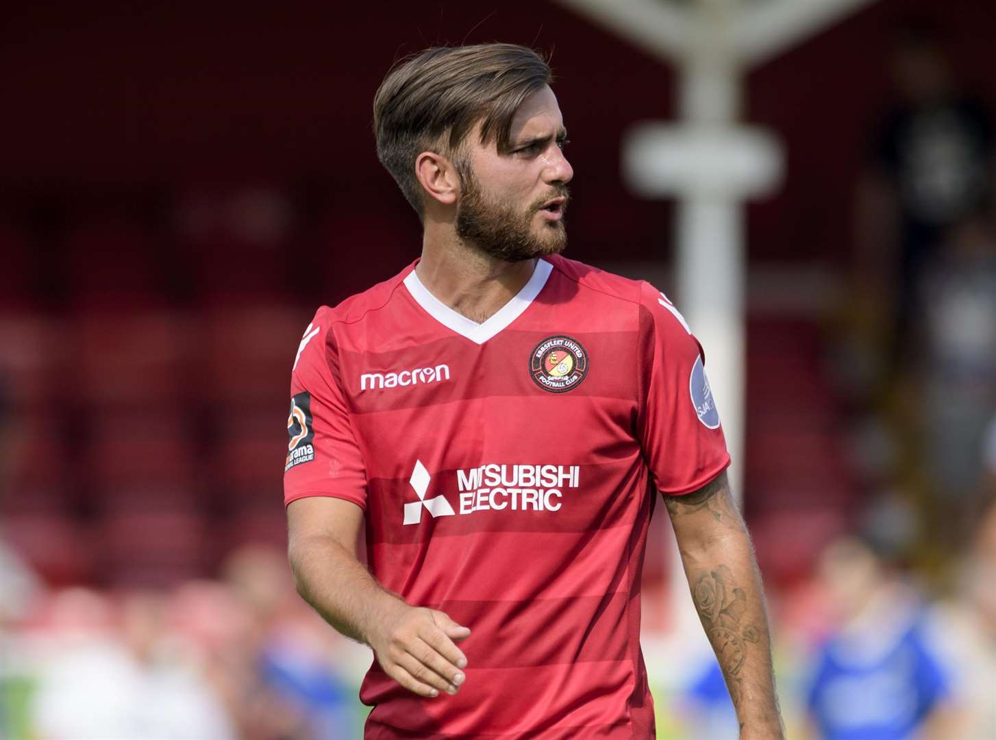
[[[859,240],[872,291],[887,291],[886,276],[898,276],[885,295],[894,295],[893,361],[901,361],[924,265],[945,230],[989,196],[993,130],[985,105],[959,89],[937,29],[902,28],[890,66],[898,100],[874,137]]]

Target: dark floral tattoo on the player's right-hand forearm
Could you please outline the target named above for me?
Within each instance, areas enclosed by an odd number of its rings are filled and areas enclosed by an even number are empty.
[[[695,609],[702,625],[716,650],[719,666],[726,676],[730,698],[740,706],[740,671],[747,656],[747,643],[761,640],[761,632],[754,624],[744,624],[747,596],[742,589],[733,588],[733,574],[726,566],[699,578],[692,589]]]

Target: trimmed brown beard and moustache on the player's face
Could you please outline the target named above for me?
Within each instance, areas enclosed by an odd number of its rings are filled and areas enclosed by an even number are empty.
[[[456,209],[456,235],[462,241],[472,242],[484,254],[504,262],[522,262],[564,251],[567,246],[564,224],[567,200],[561,206],[559,220],[543,219],[538,228],[533,221],[544,203],[552,198],[568,197],[566,185],[554,187],[550,194],[520,210],[485,195],[469,168],[461,172],[461,179],[463,193]]]

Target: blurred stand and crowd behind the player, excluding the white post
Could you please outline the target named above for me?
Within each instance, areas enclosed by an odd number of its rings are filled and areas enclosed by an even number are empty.
[[[996,14],[852,5],[740,81],[784,157],[737,226],[743,509],[791,737],[991,739]],[[317,306],[420,249],[374,154],[383,75],[495,40],[552,55],[567,256],[680,308],[675,198],[622,166],[680,116],[677,68],[574,3],[0,11],[0,737],[361,736],[370,651],[286,565],[290,368]],[[734,737],[707,645],[674,649],[660,514],[658,736]]]

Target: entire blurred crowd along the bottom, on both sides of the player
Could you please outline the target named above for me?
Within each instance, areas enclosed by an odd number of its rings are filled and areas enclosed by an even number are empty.
[[[996,433],[996,432],[994,432]],[[996,481],[996,460],[990,474]],[[996,506],[939,593],[870,510],[812,578],[771,589],[776,673],[793,738],[996,737]],[[329,740],[362,735],[370,650],[297,597],[284,553],[233,552],[217,579],[164,589],[50,589],[0,547],[0,736]],[[662,740],[728,740],[711,653],[647,653]],[[670,675],[660,680],[661,671]]]

